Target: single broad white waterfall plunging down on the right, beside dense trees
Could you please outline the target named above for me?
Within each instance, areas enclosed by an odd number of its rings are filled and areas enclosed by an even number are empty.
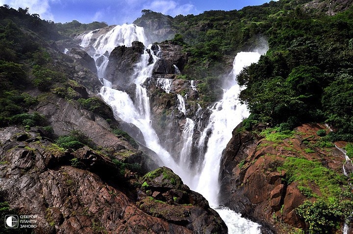
[[[226,148],[228,141],[232,137],[232,130],[249,116],[245,105],[241,105],[238,100],[241,87],[235,82],[235,76],[244,68],[259,60],[260,54],[257,52],[240,52],[236,55],[233,62],[233,71],[230,74],[233,78],[233,85],[225,90],[222,100],[212,107],[212,114],[199,142],[202,145],[209,132],[207,151],[202,162],[202,172],[199,176],[196,191],[203,194],[211,205],[218,204],[219,183],[218,174],[220,160],[223,149]]]

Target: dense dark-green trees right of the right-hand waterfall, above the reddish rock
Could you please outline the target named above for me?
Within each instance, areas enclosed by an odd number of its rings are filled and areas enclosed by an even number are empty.
[[[335,16],[278,16],[265,32],[270,50],[238,76],[240,97],[258,120],[280,124],[326,121],[353,134],[353,10]]]

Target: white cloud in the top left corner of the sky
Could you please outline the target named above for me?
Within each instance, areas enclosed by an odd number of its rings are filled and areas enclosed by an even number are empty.
[[[59,1],[59,0],[52,0]],[[14,9],[28,7],[30,14],[39,14],[41,19],[53,20],[50,12],[49,0],[0,0],[0,5],[7,4]]]

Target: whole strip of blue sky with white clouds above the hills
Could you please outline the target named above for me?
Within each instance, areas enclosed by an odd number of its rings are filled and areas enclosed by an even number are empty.
[[[198,15],[207,10],[239,10],[244,6],[261,5],[269,0],[0,0],[0,5],[29,8],[29,13],[55,23],[77,20],[111,24],[132,23],[141,10],[150,9],[165,15]]]

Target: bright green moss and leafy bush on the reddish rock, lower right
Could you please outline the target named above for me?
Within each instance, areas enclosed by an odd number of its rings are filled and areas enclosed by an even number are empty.
[[[342,190],[346,178],[328,169],[320,162],[302,158],[287,157],[277,170],[285,170],[286,183],[298,183],[298,189],[307,198],[317,198],[315,202],[304,201],[296,212],[308,224],[310,234],[333,233],[337,225],[347,219],[353,211],[352,193],[350,187]],[[320,194],[310,187],[318,187]]]

